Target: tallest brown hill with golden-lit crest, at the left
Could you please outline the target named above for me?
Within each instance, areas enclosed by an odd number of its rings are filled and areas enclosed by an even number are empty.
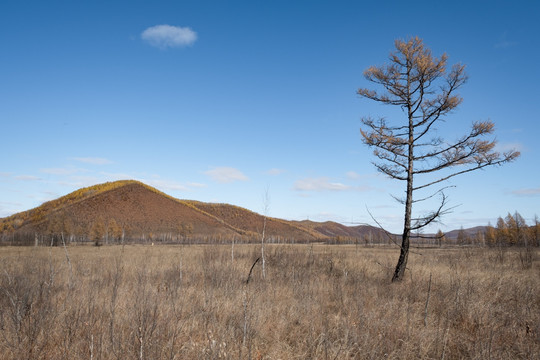
[[[236,232],[214,216],[136,181],[80,189],[3,220],[4,227],[18,231],[63,230],[76,235],[90,235],[99,228],[104,232],[111,226],[131,236],[152,233],[210,236]]]

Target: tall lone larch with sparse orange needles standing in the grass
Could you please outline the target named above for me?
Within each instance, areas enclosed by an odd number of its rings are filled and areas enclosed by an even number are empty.
[[[519,156],[515,150],[500,154],[494,150],[495,140],[483,140],[494,131],[489,120],[473,123],[466,135],[453,142],[435,136],[437,125],[462,102],[455,93],[467,80],[465,66],[456,64],[447,70],[447,55],[432,56],[418,37],[396,40],[395,47],[389,64],[371,66],[364,72],[368,81],[383,90],[358,90],[361,97],[397,106],[404,114],[402,122],[364,117],[361,129],[363,142],[374,148],[377,170],[406,183],[405,198],[396,198],[405,206],[405,216],[392,281],[403,278],[411,232],[437,221],[449,210],[443,186],[446,180]],[[413,217],[413,204],[436,196],[440,202],[435,210]]]

